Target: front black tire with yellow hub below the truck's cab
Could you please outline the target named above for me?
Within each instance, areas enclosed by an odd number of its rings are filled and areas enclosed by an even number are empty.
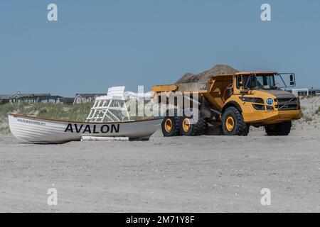
[[[245,123],[242,114],[233,106],[228,107],[222,116],[222,128],[225,135],[242,135],[249,133],[250,125]]]

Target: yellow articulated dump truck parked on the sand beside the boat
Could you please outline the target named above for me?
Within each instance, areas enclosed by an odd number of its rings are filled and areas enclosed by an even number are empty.
[[[283,76],[289,76],[289,86]],[[165,94],[168,106],[170,96],[177,93],[183,99],[186,94],[190,100],[195,94],[198,97],[196,106],[188,106],[189,113],[198,109],[196,123],[185,114],[185,104],[178,105],[178,101],[174,101],[171,104],[174,114],[166,112],[162,132],[164,136],[202,135],[208,125],[213,125],[224,135],[247,135],[250,126],[265,127],[267,135],[289,135],[292,121],[301,117],[299,97],[280,89],[277,80],[283,82],[284,87],[295,85],[294,74],[239,72],[219,74],[207,82],[154,86],[154,98],[160,102]]]

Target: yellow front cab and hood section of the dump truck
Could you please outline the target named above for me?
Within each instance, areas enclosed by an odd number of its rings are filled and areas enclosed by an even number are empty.
[[[287,75],[289,82],[286,83],[284,77]],[[270,135],[288,135],[292,120],[301,117],[300,103],[298,96],[282,88],[294,87],[294,84],[294,74],[278,74],[277,72],[234,74],[233,85],[229,87],[228,99],[225,99],[223,104],[223,114],[230,106],[233,106],[240,111],[247,125],[265,126],[267,134]],[[223,122],[223,124],[226,124],[225,133],[230,133],[228,128],[233,127],[230,125],[228,127],[228,122]]]

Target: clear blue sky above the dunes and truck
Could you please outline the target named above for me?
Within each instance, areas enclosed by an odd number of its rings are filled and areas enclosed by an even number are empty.
[[[50,3],[58,21],[47,20]],[[215,64],[320,87],[319,23],[319,0],[3,0],[0,94],[137,91]]]

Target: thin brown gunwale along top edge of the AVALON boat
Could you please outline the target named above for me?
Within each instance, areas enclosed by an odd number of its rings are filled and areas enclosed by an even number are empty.
[[[20,118],[29,118],[32,120],[38,120],[38,121],[53,121],[53,122],[63,122],[63,123],[83,123],[83,124],[114,124],[114,123],[136,123],[136,122],[144,122],[144,121],[156,121],[156,120],[162,120],[163,118],[147,118],[147,119],[138,119],[138,120],[132,120],[132,121],[106,121],[106,122],[85,122],[85,121],[67,121],[67,120],[55,120],[55,119],[49,119],[49,118],[38,118],[35,116],[26,116],[22,114],[11,114],[8,113],[8,116],[14,116],[14,117],[20,117]]]

